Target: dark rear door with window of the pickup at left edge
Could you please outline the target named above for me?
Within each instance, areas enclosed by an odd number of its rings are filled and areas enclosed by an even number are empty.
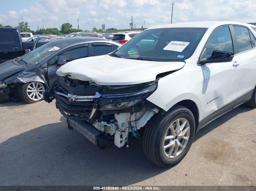
[[[0,63],[17,58],[23,54],[22,44],[18,35],[17,31],[0,30]]]

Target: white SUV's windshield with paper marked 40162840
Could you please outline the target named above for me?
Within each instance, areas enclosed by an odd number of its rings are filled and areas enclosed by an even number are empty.
[[[145,30],[121,46],[114,56],[129,59],[183,62],[194,53],[206,30],[207,28]]]

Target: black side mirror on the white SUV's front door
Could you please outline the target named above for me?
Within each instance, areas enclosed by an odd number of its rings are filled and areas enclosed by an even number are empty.
[[[210,58],[203,58],[200,60],[200,65],[205,65],[207,63],[231,62],[233,57],[233,53],[214,50]]]

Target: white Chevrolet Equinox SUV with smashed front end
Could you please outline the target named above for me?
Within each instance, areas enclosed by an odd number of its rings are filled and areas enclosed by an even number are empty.
[[[143,135],[146,156],[169,167],[199,129],[242,103],[256,107],[255,36],[255,26],[228,21],[151,27],[59,68],[45,100],[55,97],[68,128],[99,148]]]

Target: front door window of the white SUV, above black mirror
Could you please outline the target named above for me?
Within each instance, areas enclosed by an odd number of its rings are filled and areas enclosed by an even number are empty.
[[[208,39],[202,58],[210,58],[214,50],[234,54],[231,34],[228,26],[216,29]]]

